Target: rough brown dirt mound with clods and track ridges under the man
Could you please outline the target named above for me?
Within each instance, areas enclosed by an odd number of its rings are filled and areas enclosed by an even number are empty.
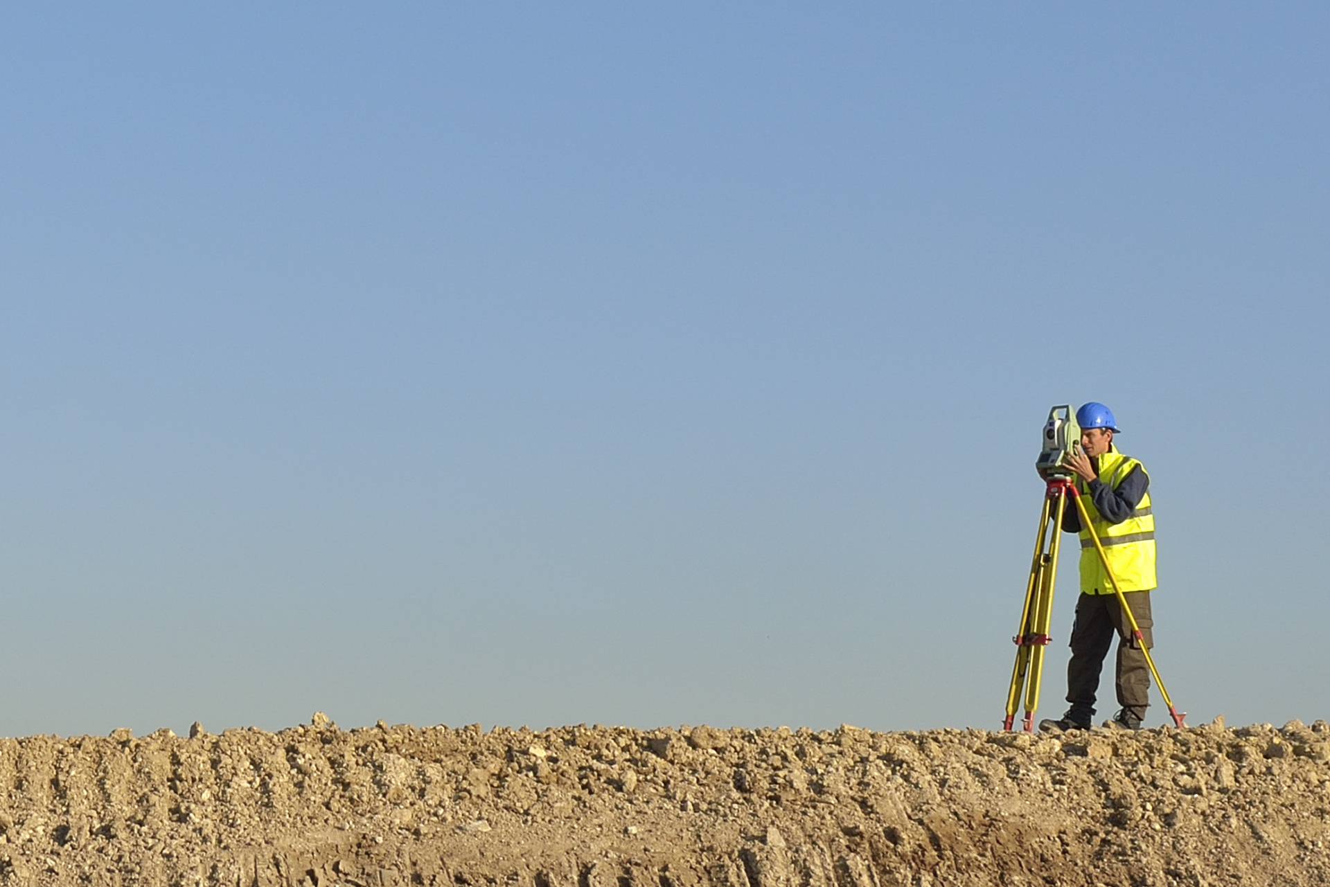
[[[192,733],[0,741],[0,883],[1330,883],[1322,721]]]

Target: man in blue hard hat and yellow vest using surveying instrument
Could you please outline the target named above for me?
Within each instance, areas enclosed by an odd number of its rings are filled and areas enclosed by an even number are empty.
[[[1040,730],[1084,730],[1095,717],[1095,696],[1108,648],[1117,636],[1117,702],[1121,709],[1105,727],[1138,730],[1149,705],[1150,673],[1141,650],[1154,649],[1150,617],[1150,590],[1154,577],[1154,515],[1150,507],[1150,477],[1145,465],[1113,445],[1120,434],[1113,411],[1101,403],[1087,403],[1076,411],[1081,427],[1081,452],[1068,457],[1076,472],[1076,489],[1087,505],[1095,532],[1113,570],[1123,598],[1132,609],[1141,640],[1133,637],[1130,621],[1113,593],[1088,528],[1080,515],[1068,509],[1063,529],[1080,535],[1081,593],[1072,624],[1072,658],[1067,665],[1067,701],[1071,707],[1060,718],[1040,721]]]

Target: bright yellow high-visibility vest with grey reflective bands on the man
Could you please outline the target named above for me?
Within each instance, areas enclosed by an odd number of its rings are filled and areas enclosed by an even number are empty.
[[[1113,489],[1117,489],[1132,468],[1145,471],[1145,465],[1130,456],[1124,456],[1117,447],[1109,447],[1109,451],[1099,457],[1099,479]],[[1083,477],[1076,479],[1076,488],[1081,492],[1081,501],[1089,512],[1091,524],[1104,545],[1104,553],[1108,555],[1108,565],[1113,570],[1117,586],[1124,592],[1148,592],[1158,585],[1154,577],[1154,512],[1150,508],[1149,489],[1127,520],[1109,524],[1095,508],[1095,500],[1087,492]],[[1080,543],[1081,592],[1112,594],[1113,584],[1104,572],[1104,564],[1085,527],[1081,527]]]

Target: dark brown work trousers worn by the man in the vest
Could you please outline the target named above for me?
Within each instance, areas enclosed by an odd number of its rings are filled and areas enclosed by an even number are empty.
[[[1154,620],[1150,618],[1150,593],[1127,592],[1128,606],[1141,626],[1145,648],[1154,649]],[[1132,624],[1123,613],[1116,594],[1081,594],[1076,601],[1072,624],[1072,660],[1067,664],[1067,701],[1077,715],[1095,714],[1099,673],[1104,668],[1108,646],[1117,636],[1117,703],[1138,718],[1145,718],[1150,703],[1150,669],[1141,652],[1141,642],[1132,637]]]

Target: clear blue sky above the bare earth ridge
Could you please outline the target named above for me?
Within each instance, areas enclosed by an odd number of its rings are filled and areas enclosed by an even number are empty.
[[[1180,707],[1330,717],[1327,32],[7,9],[0,733],[995,727],[1091,399]]]

